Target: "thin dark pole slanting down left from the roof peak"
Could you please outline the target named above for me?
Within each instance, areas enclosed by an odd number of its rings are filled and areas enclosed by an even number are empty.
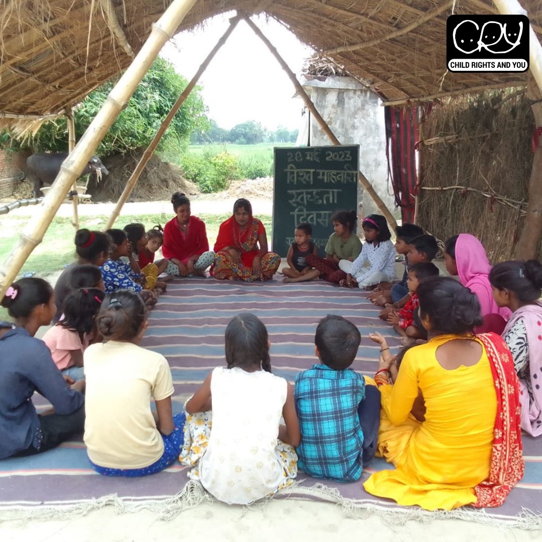
[[[184,91],[180,94],[179,98],[173,104],[173,106],[170,109],[170,112],[167,114],[167,117],[162,122],[162,125],[160,125],[160,128],[158,129],[158,132],[156,132],[156,135],[154,135],[154,138],[152,139],[149,146],[146,148],[145,152],[143,153],[143,156],[140,158],[139,162],[137,163],[137,166],[135,166],[135,169],[126,182],[126,186],[124,187],[124,190],[122,190],[122,193],[120,195],[119,201],[117,202],[117,205],[115,205],[115,208],[113,209],[113,212],[111,213],[111,216],[109,217],[109,220],[107,221],[107,224],[105,225],[105,230],[108,230],[113,227],[113,224],[115,223],[115,220],[117,220],[120,211],[122,209],[122,205],[124,205],[130,196],[135,183],[138,182],[138,179],[145,169],[145,166],[147,165],[147,162],[152,157],[152,154],[154,152],[154,149],[156,149],[158,143],[160,142],[160,139],[162,139],[162,136],[164,135],[164,132],[167,130],[167,127],[169,127],[171,121],[173,120],[173,117],[175,117],[177,111],[179,110],[179,107],[183,105],[183,102],[188,98],[190,92],[192,89],[196,86],[196,83],[198,82],[199,78],[201,77],[202,73],[207,69],[207,66],[209,66],[209,63],[213,59],[213,57],[216,55],[218,50],[223,46],[225,41],[228,39],[230,34],[233,32],[234,28],[237,26],[237,23],[241,20],[240,16],[233,17],[230,20],[230,25],[225,31],[224,35],[220,38],[220,40],[217,41],[215,47],[212,48],[209,55],[207,55],[207,58],[202,62],[201,66],[199,66],[196,74],[193,76],[193,78],[190,80],[188,85],[186,85],[186,88]]]

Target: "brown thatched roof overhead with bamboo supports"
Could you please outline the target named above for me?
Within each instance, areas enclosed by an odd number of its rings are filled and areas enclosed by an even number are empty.
[[[129,66],[169,3],[0,2],[0,115],[54,114],[77,104]],[[542,2],[522,5],[542,35]],[[489,0],[199,0],[179,31],[221,12],[263,12],[387,99],[524,85],[526,74],[447,73],[446,18],[453,6],[456,14],[497,12]]]

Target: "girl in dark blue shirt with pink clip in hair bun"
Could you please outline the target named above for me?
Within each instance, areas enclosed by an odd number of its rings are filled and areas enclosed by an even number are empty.
[[[2,307],[15,324],[0,322],[0,459],[50,450],[83,430],[85,380],[73,383],[56,368],[46,344],[35,339],[56,310],[51,285],[21,279],[6,291]],[[68,384],[72,384],[68,387]],[[31,401],[38,391],[54,411],[37,414]]]

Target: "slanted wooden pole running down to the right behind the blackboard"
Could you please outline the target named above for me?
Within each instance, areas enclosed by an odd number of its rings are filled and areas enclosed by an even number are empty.
[[[288,67],[288,64],[284,61],[284,59],[279,55],[279,51],[275,49],[273,44],[267,39],[266,36],[263,35],[262,31],[250,20],[250,18],[247,15],[244,15],[243,18],[247,22],[249,27],[254,31],[256,36],[258,36],[263,41],[263,43],[266,44],[267,48],[271,51],[271,54],[279,62],[282,69],[286,72],[286,74],[292,81],[299,96],[305,102],[305,105],[307,106],[308,110],[313,114],[314,118],[318,121],[318,124],[320,125],[322,130],[325,132],[327,137],[330,138],[333,145],[340,145],[340,141],[335,137],[335,134],[331,131],[331,128],[327,125],[327,122],[324,119],[322,119],[320,113],[318,113],[317,108],[314,106],[313,102],[308,97],[307,93],[305,92],[305,89],[301,86],[301,83],[295,77],[295,74]],[[363,188],[367,191],[369,196],[371,196],[376,206],[378,207],[379,211],[385,216],[386,221],[388,221],[390,226],[395,229],[397,227],[397,222],[395,221],[395,218],[393,218],[393,215],[391,214],[390,210],[386,207],[386,204],[382,201],[380,196],[377,194],[376,190],[372,187],[371,183],[369,182],[369,179],[367,179],[363,175],[363,173],[359,170],[358,170],[358,180],[363,185]]]

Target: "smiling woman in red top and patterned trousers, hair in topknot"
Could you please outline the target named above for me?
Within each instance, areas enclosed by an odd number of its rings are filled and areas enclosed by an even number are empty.
[[[182,192],[175,192],[171,203],[176,216],[164,228],[162,254],[169,260],[165,273],[205,276],[205,269],[215,259],[215,253],[209,250],[205,222],[190,214],[190,199]]]

